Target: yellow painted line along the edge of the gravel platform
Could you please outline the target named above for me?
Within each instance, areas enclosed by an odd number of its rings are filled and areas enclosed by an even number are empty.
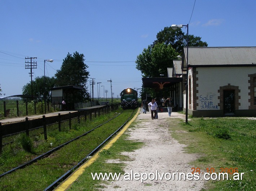
[[[140,108],[138,108],[137,113],[134,115],[134,117],[132,118],[131,121],[128,122],[128,124],[126,124],[124,126],[124,128],[108,143],[106,144],[101,150],[103,149],[109,149],[113,143],[115,143],[116,140],[119,139],[119,137],[121,135],[124,134],[125,130],[127,130],[127,128],[131,125],[131,123],[137,118],[137,116],[140,113]],[[101,152],[101,150],[99,150],[95,155],[92,156],[92,158],[90,158],[89,160],[87,160],[87,162],[85,162],[83,165],[81,165],[78,169],[75,170],[75,172],[73,172],[65,181],[63,181],[55,190],[59,191],[59,190],[66,190],[73,182],[76,181],[76,179],[78,179],[78,177],[83,174],[83,172],[85,171],[85,168],[87,168],[88,166],[90,166],[98,157],[99,157],[99,153]]]

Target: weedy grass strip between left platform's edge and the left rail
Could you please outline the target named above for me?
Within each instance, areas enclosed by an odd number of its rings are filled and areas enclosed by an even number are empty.
[[[118,112],[120,111],[122,110],[118,110]],[[62,124],[61,132],[58,131],[58,124],[48,126],[47,140],[44,140],[43,128],[30,131],[29,140],[26,138],[25,133],[6,137],[9,141],[12,140],[13,143],[3,146],[3,153],[0,154],[0,173],[4,173],[58,145],[74,139],[116,115],[115,112],[110,112],[100,117],[92,118],[91,121],[87,120],[86,122],[84,122],[83,118],[80,118],[80,124],[77,123],[77,119],[74,119],[72,120],[71,130],[69,129],[69,122],[67,121]],[[31,140],[32,143],[30,142]],[[31,146],[31,144],[34,146]],[[25,152],[26,149],[23,149],[22,145],[30,145],[31,148],[28,148],[30,149],[28,151],[32,152]]]

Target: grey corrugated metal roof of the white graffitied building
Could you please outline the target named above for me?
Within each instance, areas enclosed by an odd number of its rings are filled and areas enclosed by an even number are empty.
[[[184,48],[186,67],[187,48]],[[256,66],[256,47],[189,47],[189,65],[252,65]]]

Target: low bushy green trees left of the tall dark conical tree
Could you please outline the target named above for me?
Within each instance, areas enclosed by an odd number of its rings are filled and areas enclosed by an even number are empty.
[[[41,97],[43,99],[44,97],[44,88],[45,88],[45,96],[47,99],[47,102],[49,102],[51,94],[50,94],[50,88],[53,88],[55,86],[55,78],[45,76],[45,83],[44,83],[44,76],[36,77],[35,80],[32,81],[33,84],[33,95],[37,97]],[[27,83],[22,88],[22,94],[23,95],[31,95],[31,83]]]

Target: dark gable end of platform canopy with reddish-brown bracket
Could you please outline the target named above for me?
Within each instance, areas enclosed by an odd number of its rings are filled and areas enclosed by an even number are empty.
[[[144,88],[163,89],[179,82],[182,82],[182,78],[142,78]]]

